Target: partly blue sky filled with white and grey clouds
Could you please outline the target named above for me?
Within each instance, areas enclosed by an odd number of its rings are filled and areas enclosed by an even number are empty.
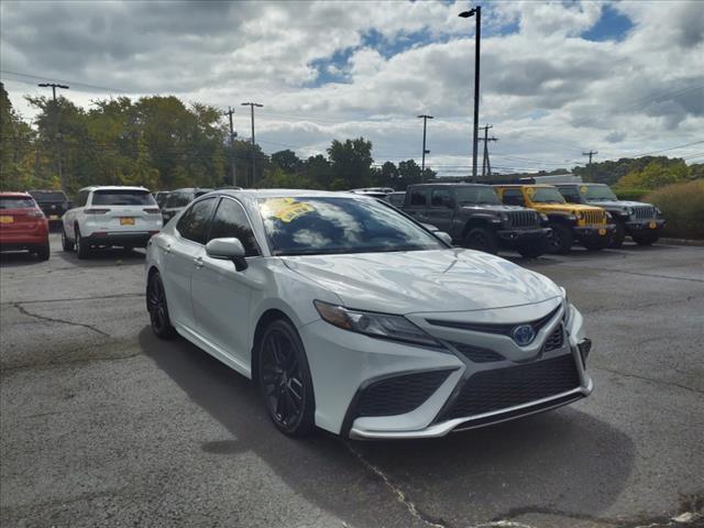
[[[175,95],[235,108],[241,139],[307,157],[363,136],[375,162],[471,172],[468,1],[0,3],[0,79],[24,95]],[[644,154],[704,162],[704,2],[482,2],[480,125],[495,172]],[[223,118],[223,122],[224,122]],[[480,148],[481,153],[481,148]],[[480,158],[481,167],[481,158]]]

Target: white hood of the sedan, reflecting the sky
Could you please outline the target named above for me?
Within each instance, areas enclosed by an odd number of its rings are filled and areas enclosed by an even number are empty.
[[[283,256],[350,308],[387,314],[471,311],[561,295],[549,278],[471,250]]]

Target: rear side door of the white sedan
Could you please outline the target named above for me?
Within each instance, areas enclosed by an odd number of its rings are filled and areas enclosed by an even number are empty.
[[[190,299],[190,280],[197,266],[202,262],[216,201],[213,197],[194,202],[178,220],[174,235],[162,248],[166,253],[164,287],[168,300],[168,315],[174,323],[186,327],[190,331],[196,329]]]

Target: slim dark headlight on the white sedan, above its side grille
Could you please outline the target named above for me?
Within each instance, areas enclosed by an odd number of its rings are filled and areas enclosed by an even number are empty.
[[[404,316],[351,310],[322,300],[312,304],[320,317],[343,330],[363,333],[372,338],[391,339],[422,346],[443,348],[435,338],[422,331]]]

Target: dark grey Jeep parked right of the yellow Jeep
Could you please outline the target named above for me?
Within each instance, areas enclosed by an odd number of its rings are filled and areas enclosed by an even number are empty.
[[[570,204],[598,206],[605,209],[615,223],[609,248],[620,248],[627,234],[640,245],[658,241],[664,227],[662,212],[651,204],[619,200],[606,184],[554,184]]]

